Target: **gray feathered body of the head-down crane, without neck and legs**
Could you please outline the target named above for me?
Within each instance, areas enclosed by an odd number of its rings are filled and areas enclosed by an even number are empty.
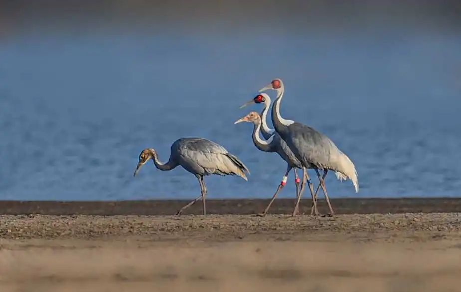
[[[171,146],[170,160],[194,175],[238,175],[247,180],[248,168],[223,146],[204,138],[180,138]]]

